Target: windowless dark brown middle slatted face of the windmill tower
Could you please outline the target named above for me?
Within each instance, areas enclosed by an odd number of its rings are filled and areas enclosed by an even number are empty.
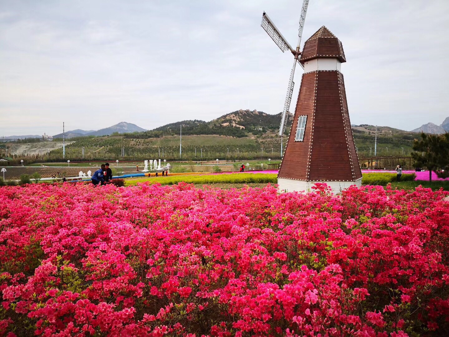
[[[339,95],[339,72],[319,71],[310,181],[353,180]]]

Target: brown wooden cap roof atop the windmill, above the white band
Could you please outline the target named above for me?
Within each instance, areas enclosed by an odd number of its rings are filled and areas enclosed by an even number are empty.
[[[304,64],[314,58],[338,58],[346,62],[341,41],[326,26],[321,26],[306,41],[299,61]]]

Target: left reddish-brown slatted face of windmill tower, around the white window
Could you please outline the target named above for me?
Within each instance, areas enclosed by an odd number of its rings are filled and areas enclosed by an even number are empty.
[[[308,151],[312,135],[313,104],[315,101],[315,78],[315,71],[303,74],[301,89],[299,90],[295,108],[295,116],[293,118],[284,158],[279,168],[278,177],[300,180],[307,179]],[[304,141],[295,142],[298,119],[302,115],[307,115]]]

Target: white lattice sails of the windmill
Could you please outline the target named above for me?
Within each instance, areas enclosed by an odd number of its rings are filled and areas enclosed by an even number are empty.
[[[291,68],[290,72],[290,79],[288,81],[287,94],[284,102],[284,110],[282,111],[281,125],[279,127],[279,136],[281,136],[281,157],[283,153],[282,136],[284,135],[285,126],[287,124],[287,113],[290,112],[290,102],[293,95],[293,87],[295,85],[295,82],[293,82],[293,77],[295,76],[296,62],[298,62],[299,65],[304,69],[304,66],[299,62],[299,55],[301,55],[299,48],[303,35],[304,21],[307,14],[308,3],[309,0],[304,0],[303,6],[301,8],[301,16],[299,18],[298,43],[296,44],[296,49],[293,49],[291,47],[291,45],[287,42],[285,37],[281,34],[281,32],[277,29],[273,21],[271,21],[271,19],[265,12],[262,14],[262,23],[260,24],[262,28],[264,28],[264,30],[268,33],[268,35],[273,39],[274,43],[277,44],[279,49],[281,49],[282,53],[284,53],[286,50],[290,50],[295,58],[295,60],[293,61],[293,67]]]

